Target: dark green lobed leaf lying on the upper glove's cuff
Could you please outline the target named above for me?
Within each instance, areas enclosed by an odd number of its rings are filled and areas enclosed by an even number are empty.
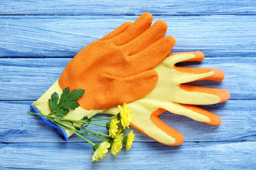
[[[65,88],[58,103],[58,93],[54,92],[51,99],[49,99],[49,107],[52,109],[52,112],[49,115],[56,113],[56,116],[63,117],[63,115],[66,115],[70,109],[78,108],[79,103],[75,101],[83,96],[83,94],[84,90],[82,89],[73,90],[70,93],[70,88]]]

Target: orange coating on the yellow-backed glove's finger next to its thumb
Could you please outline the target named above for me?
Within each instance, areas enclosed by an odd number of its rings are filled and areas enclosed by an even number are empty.
[[[204,110],[202,108],[199,108],[198,106],[195,105],[186,105],[186,104],[181,104],[179,103],[183,108],[189,109],[191,111],[194,111],[196,113],[202,114],[204,116],[207,116],[210,119],[210,122],[203,122],[208,125],[212,126],[219,126],[221,125],[221,118],[207,110]]]

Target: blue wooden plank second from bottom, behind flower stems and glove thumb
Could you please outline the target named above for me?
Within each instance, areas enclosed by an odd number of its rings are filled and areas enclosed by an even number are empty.
[[[64,142],[52,127],[43,124],[37,116],[26,113],[31,111],[29,108],[31,102],[0,102],[0,143]],[[168,112],[161,114],[160,119],[180,131],[185,142],[256,141],[255,102],[256,100],[229,100],[217,105],[203,106],[202,108],[221,117],[222,123],[218,127]],[[89,127],[107,133],[104,127],[94,125]],[[126,128],[125,134],[131,129]],[[137,130],[134,130],[134,133],[136,142],[155,142]],[[90,139],[98,141],[94,138]],[[83,140],[71,136],[68,142],[83,142]]]

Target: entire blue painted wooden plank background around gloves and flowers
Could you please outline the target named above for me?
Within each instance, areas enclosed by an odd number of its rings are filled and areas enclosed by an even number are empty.
[[[77,52],[145,11],[168,23],[173,52],[206,55],[181,65],[224,70],[223,82],[190,83],[230,90],[229,101],[203,106],[222,124],[163,113],[183,133],[183,145],[165,146],[134,130],[129,152],[92,163],[90,144],[76,136],[63,142],[26,112]],[[255,48],[255,0],[1,0],[0,169],[256,169]]]

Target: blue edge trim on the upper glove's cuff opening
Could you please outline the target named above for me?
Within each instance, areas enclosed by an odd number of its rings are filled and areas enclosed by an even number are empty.
[[[30,105],[30,108],[32,108],[35,113],[41,114],[32,104]],[[63,139],[65,142],[67,141],[67,133],[62,127],[59,127],[55,123],[47,120],[44,116],[39,117],[43,123],[52,126],[54,130],[58,133],[58,136],[61,137],[61,139]]]

